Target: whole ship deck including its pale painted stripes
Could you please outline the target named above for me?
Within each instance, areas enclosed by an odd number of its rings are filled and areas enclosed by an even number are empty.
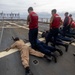
[[[48,25],[39,24],[39,31],[48,29]],[[41,32],[38,38],[40,39]],[[13,43],[12,36],[28,40],[28,28],[24,22],[0,22],[0,51],[10,47]],[[30,55],[30,68],[34,75],[75,75],[75,44],[69,46],[68,52],[64,47],[59,47],[63,51],[63,56],[57,54],[57,63],[47,62],[42,58]],[[14,49],[13,49],[14,50]],[[0,75],[25,75],[25,69],[21,63],[20,53],[17,50],[0,52]],[[33,61],[37,60],[35,64]]]

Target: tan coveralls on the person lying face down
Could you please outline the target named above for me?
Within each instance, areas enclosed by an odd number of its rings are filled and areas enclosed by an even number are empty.
[[[31,47],[25,45],[23,40],[16,41],[13,45],[11,45],[11,48],[17,48],[20,51],[24,68],[29,67],[29,54],[38,57],[44,57],[43,53],[35,51]]]

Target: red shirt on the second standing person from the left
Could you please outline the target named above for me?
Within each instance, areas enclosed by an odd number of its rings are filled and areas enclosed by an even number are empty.
[[[53,15],[53,22],[51,25],[51,28],[59,28],[60,27],[60,22],[61,22],[61,18],[58,14],[54,14]]]

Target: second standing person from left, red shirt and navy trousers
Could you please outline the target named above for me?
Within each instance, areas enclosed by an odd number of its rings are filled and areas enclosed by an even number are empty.
[[[54,38],[54,45],[55,45],[55,42],[56,42],[56,38],[58,36],[58,33],[59,33],[59,27],[61,25],[61,17],[56,14],[57,10],[56,9],[53,9],[52,10],[52,17],[50,19],[50,31],[49,31],[49,34],[46,38],[46,44],[48,44],[48,42],[50,41],[50,39],[53,37]]]

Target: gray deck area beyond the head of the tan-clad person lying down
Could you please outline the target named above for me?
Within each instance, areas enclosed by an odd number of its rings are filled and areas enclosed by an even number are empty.
[[[28,31],[21,28],[4,28],[0,50],[8,48],[13,43],[12,36],[27,39]]]

